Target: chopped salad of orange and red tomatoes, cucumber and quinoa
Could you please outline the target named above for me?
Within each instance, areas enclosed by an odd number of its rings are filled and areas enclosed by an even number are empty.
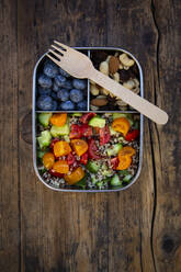
[[[126,186],[139,162],[139,114],[37,113],[37,169],[53,188]]]

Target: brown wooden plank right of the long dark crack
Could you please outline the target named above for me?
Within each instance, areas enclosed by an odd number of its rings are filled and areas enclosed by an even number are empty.
[[[156,209],[154,256],[157,271],[181,268],[181,110],[180,110],[180,1],[154,1],[158,31],[156,99],[169,113],[167,126],[150,131],[154,138]]]

